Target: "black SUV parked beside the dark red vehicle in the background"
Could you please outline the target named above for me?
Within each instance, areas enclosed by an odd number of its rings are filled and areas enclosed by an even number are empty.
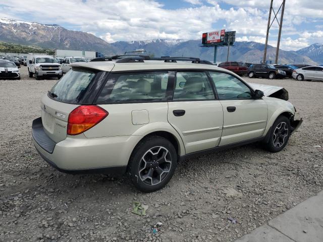
[[[276,69],[273,65],[268,64],[252,64],[248,70],[248,76],[253,77],[267,77],[269,79],[285,78],[286,72]]]

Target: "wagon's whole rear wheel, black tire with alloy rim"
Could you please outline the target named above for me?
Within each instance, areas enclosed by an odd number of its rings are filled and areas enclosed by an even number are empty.
[[[152,153],[154,152],[156,152],[157,154],[152,155]],[[158,158],[158,156],[160,157]],[[142,158],[144,158],[146,162],[143,161]],[[160,160],[161,162],[158,163],[158,160]],[[148,162],[151,166],[149,166],[149,168],[146,168],[149,165]],[[164,171],[161,172],[161,174],[159,174],[160,170],[163,170],[163,166],[165,167]],[[135,147],[129,160],[127,175],[130,178],[132,184],[138,190],[145,193],[150,193],[157,191],[163,188],[166,184],[168,184],[175,172],[176,166],[177,152],[173,144],[163,137],[150,136],[144,138]],[[151,170],[150,167],[152,167]],[[158,167],[162,167],[159,169],[159,172],[157,172]],[[165,172],[165,170],[168,171]],[[151,175],[149,176],[150,172]]]

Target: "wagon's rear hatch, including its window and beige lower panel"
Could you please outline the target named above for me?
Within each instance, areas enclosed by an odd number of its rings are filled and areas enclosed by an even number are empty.
[[[92,104],[98,75],[103,73],[88,69],[72,70],[42,97],[42,125],[51,140],[58,143],[66,139],[69,114],[79,105]]]

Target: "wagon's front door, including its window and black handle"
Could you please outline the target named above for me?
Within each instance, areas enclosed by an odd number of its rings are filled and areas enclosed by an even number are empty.
[[[253,91],[240,79],[209,72],[223,106],[223,131],[219,146],[261,137],[267,123],[267,104],[254,99]]]

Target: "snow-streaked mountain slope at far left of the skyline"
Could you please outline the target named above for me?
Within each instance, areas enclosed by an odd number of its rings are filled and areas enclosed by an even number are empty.
[[[115,52],[111,44],[81,31],[72,31],[60,25],[25,22],[0,18],[0,40],[45,48],[86,49]]]

